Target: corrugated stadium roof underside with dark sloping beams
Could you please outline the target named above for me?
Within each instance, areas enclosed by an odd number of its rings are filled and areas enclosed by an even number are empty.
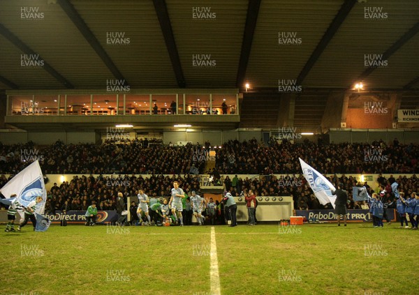
[[[0,89],[418,89],[418,19],[418,0],[5,0]]]

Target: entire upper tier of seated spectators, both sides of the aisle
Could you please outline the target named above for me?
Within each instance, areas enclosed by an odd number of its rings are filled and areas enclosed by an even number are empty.
[[[42,147],[33,142],[0,144],[0,173],[15,174],[38,158],[45,174],[203,174],[208,144],[173,146],[148,139],[107,140],[101,145],[58,141]],[[302,158],[323,174],[404,174],[419,172],[418,157],[418,145],[397,140],[390,145],[230,140],[216,150],[216,170],[219,174],[295,174],[301,171],[298,158]]]

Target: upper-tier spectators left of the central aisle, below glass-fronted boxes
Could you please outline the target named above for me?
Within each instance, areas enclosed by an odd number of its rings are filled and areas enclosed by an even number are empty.
[[[39,160],[44,174],[203,174],[202,146],[168,146],[145,140],[107,140],[101,145],[0,145],[0,173],[16,174]]]

